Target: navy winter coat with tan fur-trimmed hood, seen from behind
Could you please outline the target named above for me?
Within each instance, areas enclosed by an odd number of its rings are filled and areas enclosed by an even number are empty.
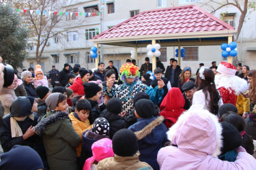
[[[135,132],[139,143],[139,160],[148,163],[153,169],[159,169],[157,153],[167,142],[167,128],[162,121],[165,118],[139,118],[128,129]]]

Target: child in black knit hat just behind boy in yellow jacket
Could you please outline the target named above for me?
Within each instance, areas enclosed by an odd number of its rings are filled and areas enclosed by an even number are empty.
[[[84,83],[85,97],[91,103],[91,112],[89,114],[90,124],[93,124],[96,118],[100,116],[100,108],[98,107],[98,100],[102,95],[102,89],[95,83]]]

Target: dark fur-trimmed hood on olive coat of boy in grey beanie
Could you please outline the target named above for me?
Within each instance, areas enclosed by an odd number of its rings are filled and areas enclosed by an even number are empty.
[[[50,124],[54,124],[55,122],[57,122],[58,120],[64,120],[68,117],[68,112],[59,112],[59,111],[55,111],[55,112],[48,112],[43,118],[42,120],[35,126],[35,133],[38,135],[42,135],[42,132],[46,130],[46,127]],[[59,124],[57,124],[57,127],[59,126]],[[53,129],[53,132],[56,131],[57,129]]]

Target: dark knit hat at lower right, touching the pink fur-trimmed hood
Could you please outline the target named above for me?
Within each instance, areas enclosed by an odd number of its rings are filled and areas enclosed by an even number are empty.
[[[223,128],[223,147],[221,152],[225,153],[229,150],[234,150],[242,145],[242,137],[235,126],[229,122],[220,122]]]

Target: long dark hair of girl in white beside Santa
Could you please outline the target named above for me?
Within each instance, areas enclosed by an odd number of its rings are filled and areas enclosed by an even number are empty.
[[[195,83],[197,91],[203,90],[205,100],[208,99],[208,94],[210,95],[210,101],[208,102],[207,107],[212,114],[218,115],[218,101],[221,99],[221,96],[214,83],[214,72],[211,69],[204,69],[203,76],[204,78],[202,79],[200,78],[200,74],[197,74]]]

